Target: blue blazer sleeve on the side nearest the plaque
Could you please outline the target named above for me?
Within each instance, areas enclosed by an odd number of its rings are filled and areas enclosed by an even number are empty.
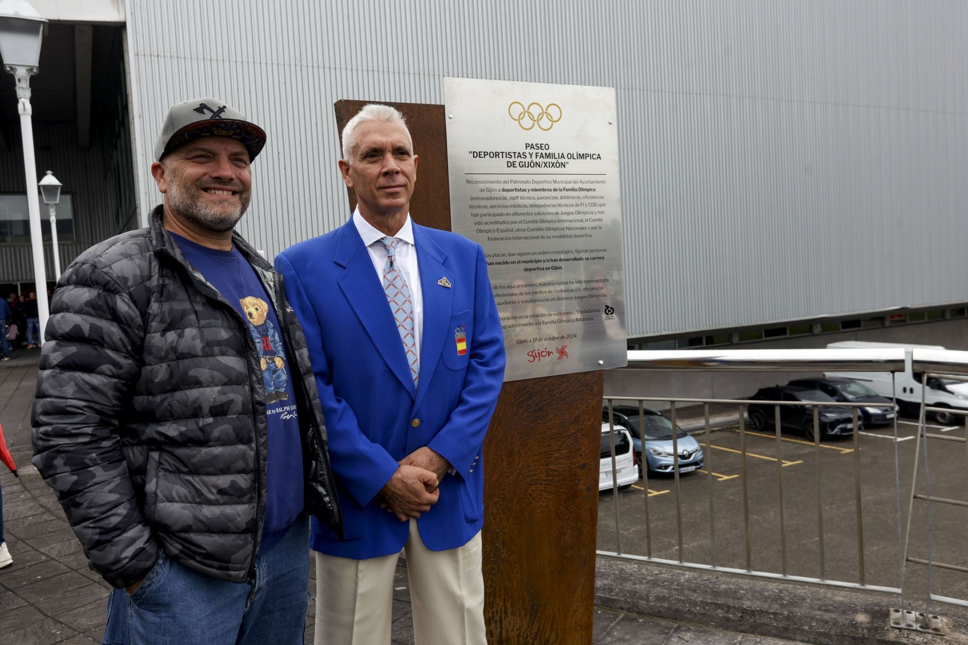
[[[447,423],[428,444],[450,462],[462,479],[480,454],[504,380],[504,334],[487,275],[487,259],[480,245],[474,275],[473,320],[464,389]]]

